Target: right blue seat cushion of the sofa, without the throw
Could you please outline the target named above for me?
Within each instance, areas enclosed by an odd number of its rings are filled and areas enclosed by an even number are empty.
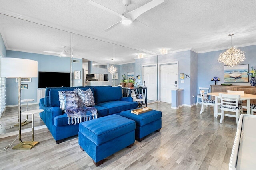
[[[116,100],[116,101],[108,101],[108,102],[104,102],[104,103],[98,103],[97,105],[101,106],[101,107],[108,108],[108,114],[111,115],[113,113],[118,113],[121,111],[134,109],[134,108],[138,107],[138,102],[136,102],[136,101],[128,102],[128,101]]]

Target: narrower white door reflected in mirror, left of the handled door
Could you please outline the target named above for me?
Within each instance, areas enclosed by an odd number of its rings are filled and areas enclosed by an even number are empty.
[[[143,81],[148,88],[148,100],[157,100],[157,68],[156,65],[143,66]]]

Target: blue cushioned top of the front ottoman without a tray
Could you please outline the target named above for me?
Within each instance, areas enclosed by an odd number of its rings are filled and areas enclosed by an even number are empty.
[[[119,115],[108,115],[82,122],[79,124],[79,132],[90,139],[96,145],[135,130],[135,121]]]

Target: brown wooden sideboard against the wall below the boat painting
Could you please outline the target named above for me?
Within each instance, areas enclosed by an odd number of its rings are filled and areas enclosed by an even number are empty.
[[[255,86],[211,85],[211,92],[227,92],[228,90],[244,91],[244,93],[256,95]],[[251,103],[256,104],[256,99],[251,99]]]

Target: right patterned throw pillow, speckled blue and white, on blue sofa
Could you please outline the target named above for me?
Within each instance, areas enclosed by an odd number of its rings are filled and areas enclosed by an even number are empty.
[[[91,88],[87,89],[86,91],[78,88],[77,93],[83,107],[95,106]]]

